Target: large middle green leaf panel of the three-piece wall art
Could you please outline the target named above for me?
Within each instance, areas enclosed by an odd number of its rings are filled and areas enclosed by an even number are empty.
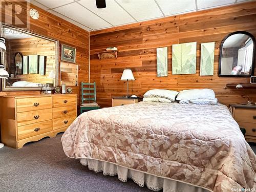
[[[197,42],[173,45],[173,75],[195,74]]]

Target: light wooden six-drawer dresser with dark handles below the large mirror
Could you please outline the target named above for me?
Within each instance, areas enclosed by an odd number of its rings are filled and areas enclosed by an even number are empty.
[[[76,94],[0,97],[1,139],[21,148],[30,141],[55,137],[75,120]]]

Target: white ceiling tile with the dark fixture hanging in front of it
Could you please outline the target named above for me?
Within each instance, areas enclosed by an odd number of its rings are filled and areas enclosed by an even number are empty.
[[[106,0],[106,8],[104,9],[97,9],[96,2],[92,0],[81,0],[78,3],[114,26],[135,22],[135,19],[113,0]]]

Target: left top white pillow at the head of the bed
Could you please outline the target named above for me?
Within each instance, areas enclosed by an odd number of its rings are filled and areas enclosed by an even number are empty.
[[[171,101],[175,101],[176,95],[178,95],[178,91],[171,91],[166,89],[152,89],[147,91],[143,97],[161,97],[165,99],[169,99]]]

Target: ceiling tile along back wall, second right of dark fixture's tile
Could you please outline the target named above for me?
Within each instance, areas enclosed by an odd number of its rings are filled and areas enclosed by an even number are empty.
[[[195,0],[156,0],[165,15],[175,15],[196,10]]]

